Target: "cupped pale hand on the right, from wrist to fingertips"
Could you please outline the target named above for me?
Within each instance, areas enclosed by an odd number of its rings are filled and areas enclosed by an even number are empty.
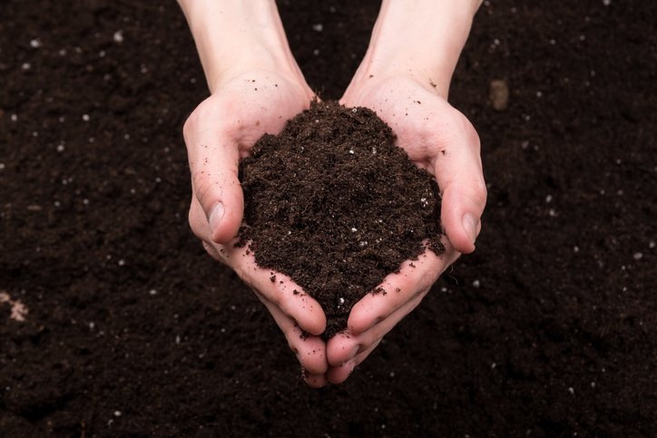
[[[385,278],[382,287],[386,294],[369,294],[358,301],[349,314],[348,330],[329,339],[327,376],[331,383],[347,379],[383,336],[417,307],[460,253],[475,249],[486,200],[476,131],[438,95],[429,78],[363,77],[357,73],[341,103],[377,112],[397,134],[397,146],[436,177],[442,194],[446,252],[437,257],[427,250],[413,265],[407,260],[398,274]]]

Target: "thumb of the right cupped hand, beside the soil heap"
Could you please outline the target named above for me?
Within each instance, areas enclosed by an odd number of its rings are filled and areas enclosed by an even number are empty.
[[[458,252],[475,250],[485,208],[486,188],[479,156],[480,143],[472,124],[457,113],[453,139],[441,145],[434,160],[442,193],[441,221],[447,238]]]

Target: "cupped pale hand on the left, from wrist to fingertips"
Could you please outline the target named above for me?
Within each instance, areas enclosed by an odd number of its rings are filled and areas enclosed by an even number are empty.
[[[287,121],[309,108],[314,97],[297,75],[253,70],[233,76],[191,113],[184,126],[190,170],[190,225],[213,258],[232,268],[270,310],[311,386],[327,384],[326,343],[319,337],[326,316],[313,298],[292,291],[289,277],[256,265],[247,248],[235,248],[244,200],[240,159],[264,133],[278,134]],[[281,284],[281,280],[284,283]],[[310,334],[302,339],[302,330]]]

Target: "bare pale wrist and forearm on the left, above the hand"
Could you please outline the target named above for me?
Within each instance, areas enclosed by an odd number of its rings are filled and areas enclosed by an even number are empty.
[[[305,83],[273,0],[178,0],[211,92],[252,70]]]

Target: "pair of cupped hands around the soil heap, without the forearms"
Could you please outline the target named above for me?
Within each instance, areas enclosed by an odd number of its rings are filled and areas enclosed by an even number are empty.
[[[208,253],[232,268],[269,309],[305,369],[306,383],[342,383],[417,307],[460,253],[475,249],[486,199],[476,131],[441,97],[431,78],[410,73],[379,77],[358,70],[340,103],[377,112],[397,135],[397,146],[436,177],[446,252],[438,257],[427,250],[414,267],[403,263],[399,273],[388,275],[381,285],[387,293],[358,301],[348,328],[326,342],[319,336],[326,316],[318,302],[307,294],[293,294],[295,287],[272,283],[270,269],[258,267],[247,248],[234,246],[244,209],[240,159],[265,132],[278,134],[289,119],[307,110],[315,93],[298,69],[232,72],[214,85],[211,97],[191,113],[183,131],[193,189],[191,229]],[[277,278],[291,281],[279,273]]]

